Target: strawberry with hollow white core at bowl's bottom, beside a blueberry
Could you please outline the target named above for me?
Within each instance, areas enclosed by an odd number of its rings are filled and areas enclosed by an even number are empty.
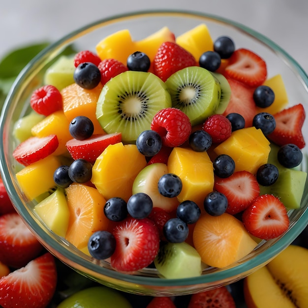
[[[148,218],[127,218],[113,230],[116,250],[111,265],[121,272],[138,271],[150,265],[159,249],[159,234]]]

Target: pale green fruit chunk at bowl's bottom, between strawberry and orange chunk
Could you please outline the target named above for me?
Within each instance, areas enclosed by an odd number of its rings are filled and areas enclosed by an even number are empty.
[[[159,274],[167,279],[197,277],[202,273],[199,253],[185,242],[162,245],[154,265]]]

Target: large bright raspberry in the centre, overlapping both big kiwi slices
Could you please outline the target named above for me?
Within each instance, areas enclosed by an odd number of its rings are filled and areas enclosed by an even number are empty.
[[[179,147],[188,139],[191,132],[191,123],[182,110],[170,107],[155,114],[151,129],[158,132],[163,145]]]

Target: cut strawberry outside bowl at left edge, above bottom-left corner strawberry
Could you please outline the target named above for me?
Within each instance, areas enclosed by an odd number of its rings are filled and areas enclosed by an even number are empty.
[[[0,261],[13,268],[25,266],[43,246],[15,212],[0,216]]]

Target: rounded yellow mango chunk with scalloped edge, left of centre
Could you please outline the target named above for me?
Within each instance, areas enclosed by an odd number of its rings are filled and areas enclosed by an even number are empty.
[[[109,145],[92,167],[91,182],[106,198],[121,197],[126,202],[132,195],[133,182],[147,161],[136,145],[122,142]]]

